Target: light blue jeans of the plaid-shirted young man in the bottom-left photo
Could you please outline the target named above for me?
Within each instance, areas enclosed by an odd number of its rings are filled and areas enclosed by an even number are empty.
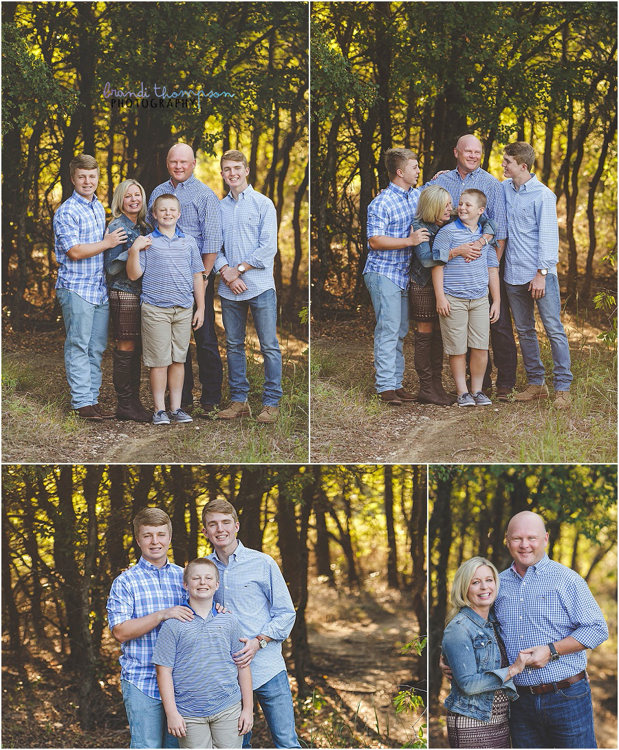
[[[121,679],[122,700],[127,711],[132,748],[178,748],[178,739],[168,733],[163,703]]]

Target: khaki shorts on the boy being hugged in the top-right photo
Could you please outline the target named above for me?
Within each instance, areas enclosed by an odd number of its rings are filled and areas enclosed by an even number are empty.
[[[488,297],[460,299],[447,295],[451,308],[448,317],[438,316],[445,354],[466,354],[472,349],[488,349],[490,304]]]

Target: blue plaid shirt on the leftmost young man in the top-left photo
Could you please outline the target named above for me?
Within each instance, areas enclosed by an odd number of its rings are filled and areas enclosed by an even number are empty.
[[[75,292],[91,305],[103,305],[108,299],[103,252],[82,260],[70,260],[67,256],[74,245],[101,242],[106,231],[103,205],[97,196],[88,201],[73,190],[73,195],[58,206],[53,224],[58,261],[55,288]]]

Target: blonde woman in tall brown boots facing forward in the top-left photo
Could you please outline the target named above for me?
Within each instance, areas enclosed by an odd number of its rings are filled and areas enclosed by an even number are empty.
[[[112,335],[116,342],[112,382],[118,405],[117,419],[133,422],[151,422],[152,414],[139,400],[140,381],[140,321],[139,297],[141,281],[127,277],[128,251],[136,238],[146,235],[151,227],[146,223],[146,194],[136,180],[124,180],[114,190],[112,221],[109,232],[121,227],[127,241],[106,250],[103,257],[109,290],[109,317]]]

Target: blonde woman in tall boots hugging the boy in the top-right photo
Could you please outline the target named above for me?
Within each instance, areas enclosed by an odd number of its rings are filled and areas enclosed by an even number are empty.
[[[417,401],[422,404],[450,406],[456,403],[456,397],[450,396],[443,388],[443,338],[441,326],[438,325],[436,297],[432,287],[432,266],[438,258],[432,255],[432,243],[438,229],[456,219],[451,205],[451,196],[440,185],[426,187],[419,196],[417,214],[413,219],[413,229],[426,229],[428,239],[414,246],[411,258],[410,281],[408,292],[411,300],[411,320],[417,321],[415,331],[414,367],[419,377],[419,394]],[[480,257],[480,245],[486,239],[495,237],[495,226],[484,214],[480,223],[484,234],[476,242],[460,245],[451,251],[451,257],[461,255],[471,261]]]

